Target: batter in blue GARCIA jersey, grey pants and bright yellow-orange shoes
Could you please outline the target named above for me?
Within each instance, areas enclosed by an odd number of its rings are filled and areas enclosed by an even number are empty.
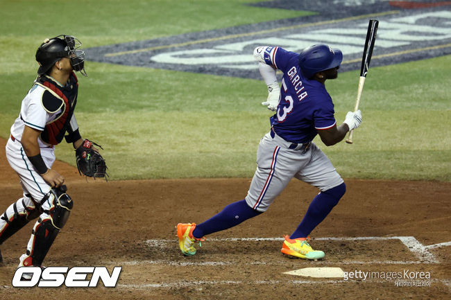
[[[359,127],[361,112],[348,112],[341,125],[334,118],[334,104],[325,81],[337,78],[343,59],[339,49],[316,44],[300,53],[277,46],[259,46],[253,53],[268,87],[262,105],[275,111],[271,130],[257,150],[257,170],[244,200],[226,206],[201,224],[179,223],[177,235],[183,254],[194,255],[195,241],[216,231],[234,227],[266,211],[293,177],[319,189],[305,217],[291,236],[284,236],[282,253],[316,260],[324,252],[312,249],[307,237],[337,205],[346,191],[345,183],[326,155],[312,140],[319,134],[325,145],[343,140],[349,130]],[[276,70],[283,72],[279,85]]]

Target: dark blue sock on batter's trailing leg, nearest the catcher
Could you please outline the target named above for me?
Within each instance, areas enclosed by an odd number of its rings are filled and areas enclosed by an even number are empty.
[[[193,231],[193,236],[194,238],[202,238],[207,234],[237,226],[237,224],[253,218],[260,213],[262,212],[255,211],[252,207],[248,206],[246,200],[228,204],[220,213],[217,213],[201,224],[197,224]]]

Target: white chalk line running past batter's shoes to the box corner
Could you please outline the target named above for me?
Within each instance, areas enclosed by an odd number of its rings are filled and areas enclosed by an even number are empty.
[[[235,242],[239,240],[244,241],[282,241],[283,238],[209,238],[211,241],[230,241]],[[429,252],[429,249],[434,249],[436,247],[444,247],[450,246],[451,242],[443,242],[440,244],[428,245],[425,246],[421,242],[419,242],[414,236],[362,236],[355,238],[315,238],[314,240],[400,240],[412,253],[416,255],[416,257],[420,260],[420,263],[439,263],[434,254]],[[151,245],[161,245],[166,242],[174,242],[173,240],[146,240],[145,241]]]

